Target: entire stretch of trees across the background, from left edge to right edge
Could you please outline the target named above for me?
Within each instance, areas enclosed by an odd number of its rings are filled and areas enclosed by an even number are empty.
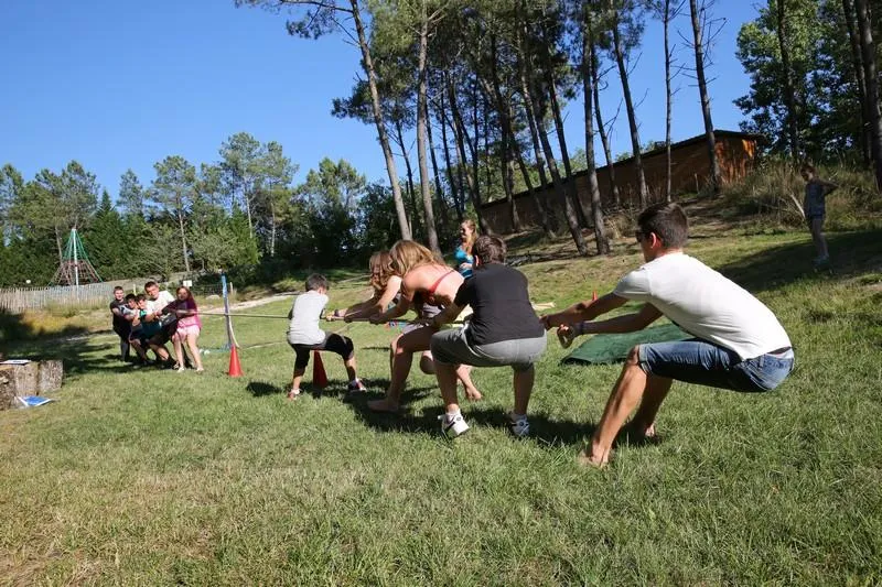
[[[557,205],[537,205],[538,228],[568,235],[581,254],[605,253],[604,215],[615,210],[601,205],[594,170],[623,155],[611,151],[612,113],[598,99],[610,88],[621,93],[641,205],[676,197],[669,183],[650,193],[641,164],[641,153],[670,144],[675,98],[701,108],[706,192],[722,187],[706,67],[714,35],[731,24],[714,18],[712,0],[236,4],[280,13],[279,34],[336,35],[359,52],[352,93],[329,108],[376,128],[388,183],[368,183],[346,161],[324,159],[295,184],[298,162],[283,145],[248,132],[224,141],[216,161],[169,155],[149,182],[129,171],[117,186],[99,185],[76,161],[31,178],[6,164],[0,286],[49,283],[72,228],[104,279],[359,263],[398,238],[440,251],[464,217],[483,225],[483,203],[504,200],[520,228],[513,196],[539,186],[553,186]],[[882,185],[880,4],[770,0],[741,25],[738,58],[751,83],[736,105],[742,130],[764,138],[763,156],[870,170]],[[663,46],[646,46],[653,21],[664,29]],[[639,134],[628,84],[638,53],[666,73],[665,138]],[[562,112],[577,105],[584,132],[568,137]],[[577,171],[588,175],[585,199],[567,181]],[[593,242],[585,227],[594,229]]]

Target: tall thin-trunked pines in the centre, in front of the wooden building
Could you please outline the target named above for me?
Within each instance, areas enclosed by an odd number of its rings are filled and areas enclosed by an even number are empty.
[[[700,97],[706,112],[711,169],[716,170],[710,176],[719,189],[703,73],[707,54],[702,47],[714,34],[707,26],[712,22],[710,1],[691,0],[689,21],[680,18],[684,0],[236,0],[236,4],[283,11],[289,33],[309,39],[338,33],[358,48],[364,75],[349,96],[335,100],[333,111],[376,127],[400,235],[423,233],[432,249],[438,250],[432,220],[439,206],[449,203],[461,219],[471,204],[481,229],[488,231],[481,205],[505,199],[510,225],[517,230],[521,219],[514,195],[527,191],[548,236],[568,231],[580,253],[589,254],[583,229],[590,227],[596,252],[609,252],[603,220],[607,210],[598,187],[600,157],[594,139],[600,134],[605,163],[612,163],[609,122],[598,100],[600,89],[610,84],[622,89],[639,204],[670,198],[669,187],[664,194],[650,194],[643,178],[637,105],[628,79],[647,19],[664,22],[666,31],[679,19],[689,31],[688,36],[680,35],[681,45],[693,51],[695,66],[671,66],[675,51],[666,35],[668,97],[678,73],[696,74],[696,98]],[[563,131],[562,112],[580,94],[585,126],[579,149],[588,171],[590,204],[578,197],[574,182],[569,181],[578,170]],[[416,178],[408,156],[408,138],[413,132]],[[433,143],[438,139],[440,145]],[[404,187],[397,161],[405,162]],[[553,186],[555,205],[542,205],[536,197],[536,189],[545,185]],[[616,205],[621,203],[617,192],[614,187]],[[421,214],[408,216],[408,200]]]

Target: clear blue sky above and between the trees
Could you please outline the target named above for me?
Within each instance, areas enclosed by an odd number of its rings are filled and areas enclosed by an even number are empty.
[[[735,37],[756,17],[752,4],[724,1],[713,9],[727,21],[709,72],[718,129],[738,130],[743,118],[732,105],[749,84]],[[323,156],[387,181],[374,127],[330,113],[331,100],[348,95],[359,73],[357,50],[341,36],[291,37],[284,17],[236,9],[233,0],[4,0],[0,26],[0,164],[11,163],[26,180],[77,160],[115,196],[129,167],[149,184],[154,162],[172,154],[196,165],[215,162],[220,143],[246,131],[280,142],[300,165],[297,181]],[[688,14],[676,26],[689,35]],[[679,58],[689,59],[682,41],[673,39],[684,50]],[[660,24],[650,22],[632,73],[643,143],[665,137],[663,58]],[[676,141],[703,126],[692,81],[675,84]],[[621,102],[616,78],[601,102],[612,117]],[[584,146],[581,98],[566,129],[570,151]],[[614,153],[630,149],[624,107],[612,141]],[[412,156],[416,163],[416,150]]]

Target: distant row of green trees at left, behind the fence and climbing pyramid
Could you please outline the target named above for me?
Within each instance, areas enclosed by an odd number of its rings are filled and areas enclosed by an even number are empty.
[[[359,262],[397,236],[388,188],[368,184],[346,161],[324,159],[294,185],[298,167],[278,142],[240,132],[218,154],[198,167],[166,156],[147,185],[129,170],[116,203],[76,161],[30,181],[3,165],[0,286],[50,283],[71,228],[104,279],[213,272],[261,259],[287,268]]]

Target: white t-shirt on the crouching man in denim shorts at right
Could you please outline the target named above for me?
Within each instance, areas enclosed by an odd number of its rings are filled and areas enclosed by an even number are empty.
[[[790,346],[787,333],[762,302],[681,252],[632,271],[613,293],[652,304],[687,333],[733,350],[742,359]]]

